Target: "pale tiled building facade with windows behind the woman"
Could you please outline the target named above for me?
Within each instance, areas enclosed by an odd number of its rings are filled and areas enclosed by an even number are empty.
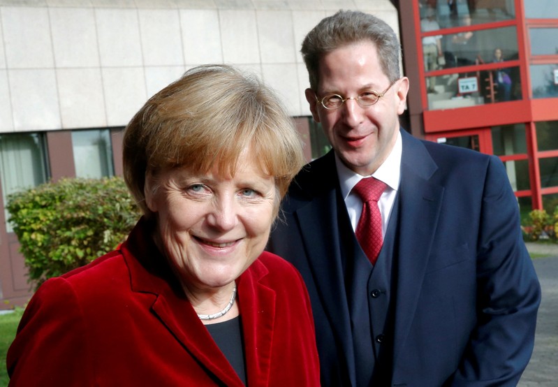
[[[0,0],[0,309],[30,295],[8,194],[61,177],[121,175],[122,129],[188,68],[226,63],[256,73],[314,152],[326,147],[311,136],[299,50],[340,8],[399,31],[388,0]]]

